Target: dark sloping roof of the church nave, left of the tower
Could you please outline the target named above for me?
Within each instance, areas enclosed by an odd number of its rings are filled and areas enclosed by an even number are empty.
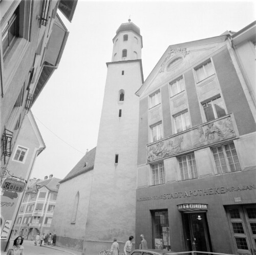
[[[80,161],[75,165],[75,167],[69,172],[69,174],[60,181],[60,183],[70,180],[82,173],[92,170],[94,167],[95,154],[96,154],[96,147],[93,148],[91,151],[89,151],[86,155],[84,155],[80,159]]]

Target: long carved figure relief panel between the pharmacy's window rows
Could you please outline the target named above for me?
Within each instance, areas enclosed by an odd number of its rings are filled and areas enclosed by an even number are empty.
[[[235,137],[233,123],[230,116],[202,124],[193,130],[189,130],[181,135],[161,140],[148,145],[147,161],[173,156],[175,154],[215,143],[231,137]]]

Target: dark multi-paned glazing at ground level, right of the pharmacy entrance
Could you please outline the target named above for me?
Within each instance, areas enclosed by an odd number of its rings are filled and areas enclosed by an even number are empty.
[[[256,205],[226,207],[234,252],[254,254],[256,250]]]

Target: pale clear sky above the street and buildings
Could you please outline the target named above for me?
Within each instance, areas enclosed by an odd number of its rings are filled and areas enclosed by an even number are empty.
[[[144,80],[169,45],[239,31],[256,19],[254,1],[78,0],[58,69],[32,107],[46,143],[31,178],[63,179],[97,145],[106,79],[116,30],[132,22],[143,39]]]

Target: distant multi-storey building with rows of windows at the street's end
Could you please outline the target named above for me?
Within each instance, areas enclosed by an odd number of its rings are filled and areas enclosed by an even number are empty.
[[[60,179],[47,176],[28,186],[18,211],[12,238],[34,240],[39,233],[50,233]]]

